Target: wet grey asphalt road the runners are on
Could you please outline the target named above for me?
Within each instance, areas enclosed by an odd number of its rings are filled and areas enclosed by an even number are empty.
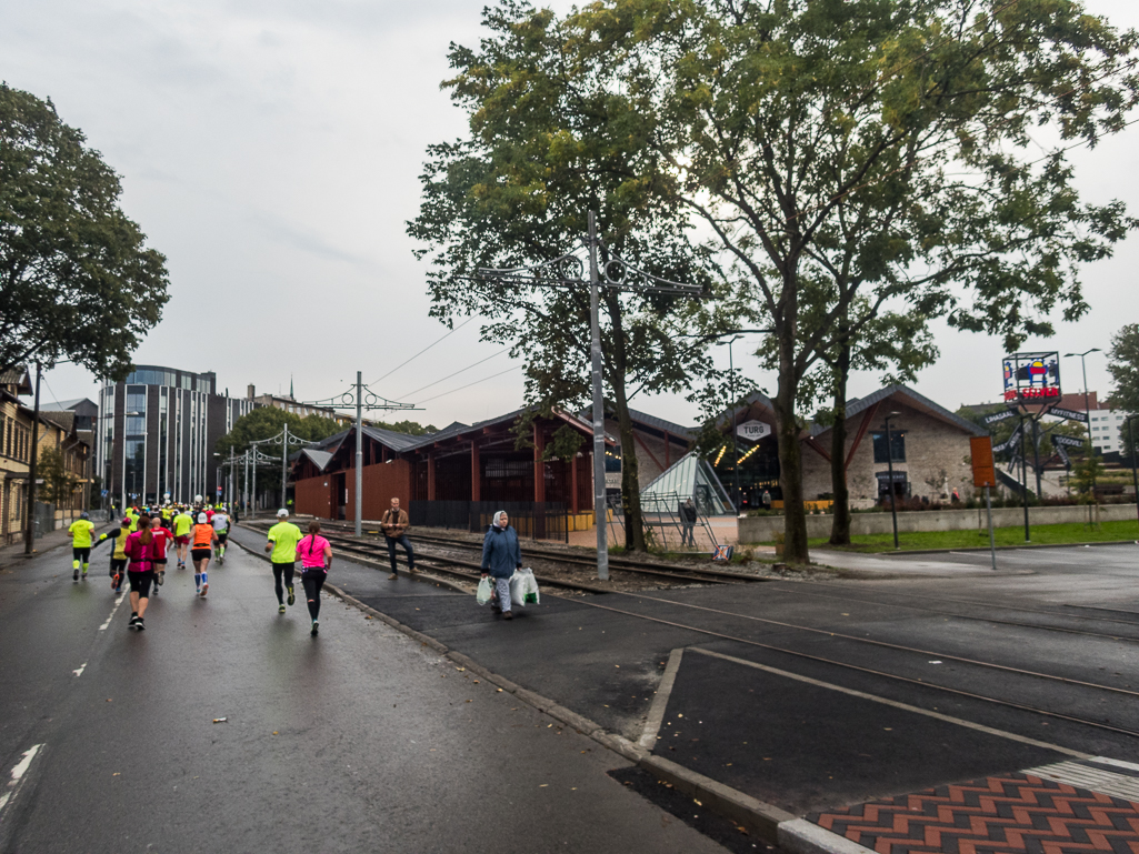
[[[722,851],[608,777],[616,755],[355,608],[326,598],[311,638],[239,549],[205,600],[170,570],[144,633],[106,551],[77,584],[69,557],[0,574],[2,851]]]

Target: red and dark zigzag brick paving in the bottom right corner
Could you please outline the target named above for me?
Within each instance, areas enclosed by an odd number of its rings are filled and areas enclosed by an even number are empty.
[[[1139,854],[1139,804],[1008,774],[808,816],[878,854]]]

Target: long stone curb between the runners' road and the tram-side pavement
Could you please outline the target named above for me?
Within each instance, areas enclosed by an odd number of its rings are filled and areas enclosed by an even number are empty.
[[[257,553],[249,547],[239,542],[237,545],[253,557],[270,563],[268,557]],[[351,559],[345,558],[345,560]],[[416,631],[411,626],[376,610],[369,605],[364,605],[354,596],[345,593],[334,584],[326,583],[325,589],[331,591],[335,596],[359,610],[376,617],[412,640],[419,641],[423,646],[434,649],[448,660],[469,671],[480,679],[485,679],[507,693],[514,695],[526,705],[549,715],[563,725],[575,730],[645,771],[655,774],[658,780],[671,783],[678,791],[682,791],[699,800],[707,810],[735,821],[737,824],[746,828],[749,834],[754,834],[761,839],[793,851],[795,854],[865,854],[867,852],[867,848],[857,845],[857,843],[823,830],[817,824],[811,824],[785,810],[780,810],[773,804],[759,800],[751,795],[734,789],[718,780],[713,780],[711,777],[691,771],[671,759],[652,755],[645,748],[623,736],[609,732],[595,721],[562,706],[549,697],[543,697],[540,693],[523,688],[516,682],[511,682],[506,676],[501,676],[482,666],[469,656],[452,650],[434,638]],[[469,591],[460,592],[469,593]],[[859,851],[854,852],[852,848],[845,847],[844,843],[847,846],[857,847]]]

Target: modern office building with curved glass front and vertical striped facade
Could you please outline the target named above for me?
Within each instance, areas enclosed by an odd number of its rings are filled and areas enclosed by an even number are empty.
[[[218,440],[255,408],[218,394],[213,371],[138,366],[99,393],[96,447],[103,488],[116,506],[216,495]]]

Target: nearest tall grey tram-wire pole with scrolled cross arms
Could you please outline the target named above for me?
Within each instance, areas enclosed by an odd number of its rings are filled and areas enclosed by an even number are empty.
[[[589,287],[589,332],[590,373],[593,389],[593,518],[597,524],[597,577],[609,578],[609,542],[606,535],[607,502],[605,496],[605,401],[603,397],[600,291],[626,290],[648,294],[674,294],[677,296],[700,297],[704,289],[698,285],[669,281],[639,270],[605,247],[597,233],[597,215],[588,213],[587,248],[589,255],[589,278],[584,278],[582,262],[576,255],[566,254],[536,266],[519,266],[509,270],[480,269],[478,278],[502,285],[521,285],[540,288]],[[606,248],[607,261],[600,266],[598,248]],[[622,453],[633,449],[622,449]]]

